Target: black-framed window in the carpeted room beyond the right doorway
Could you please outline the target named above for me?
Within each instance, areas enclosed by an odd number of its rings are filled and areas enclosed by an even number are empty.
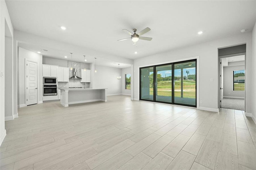
[[[245,80],[245,71],[234,70],[233,71],[233,90],[244,91],[244,88],[245,88],[244,80]]]

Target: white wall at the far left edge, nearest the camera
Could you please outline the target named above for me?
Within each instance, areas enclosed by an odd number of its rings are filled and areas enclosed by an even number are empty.
[[[13,27],[5,1],[0,1],[0,71],[5,75],[5,35],[9,31],[13,38]],[[11,66],[10,66],[11,67]],[[5,130],[5,76],[0,77],[0,145],[6,135]]]

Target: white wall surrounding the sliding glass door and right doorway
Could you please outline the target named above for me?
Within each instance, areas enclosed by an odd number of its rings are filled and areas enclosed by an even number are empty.
[[[204,35],[203,35],[204,36]],[[207,36],[207,35],[205,35]],[[139,99],[139,66],[155,65],[156,63],[167,63],[170,61],[185,60],[199,56],[199,107],[203,109],[217,111],[219,107],[219,84],[218,84],[218,48],[233,46],[236,44],[247,43],[246,46],[246,98],[251,101],[251,33],[240,33],[236,36],[218,39],[215,41],[205,42],[203,44],[196,44],[184,48],[172,50],[170,52],[160,53],[140,59],[134,60],[134,99]],[[210,79],[213,78],[213,82]],[[251,112],[251,103],[246,102],[247,112]]]

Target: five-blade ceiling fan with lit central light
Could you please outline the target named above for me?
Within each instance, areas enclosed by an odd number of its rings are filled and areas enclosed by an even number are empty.
[[[127,34],[131,35],[130,38],[125,38],[125,39],[121,39],[121,40],[117,40],[117,41],[124,41],[124,40],[128,40],[131,39],[133,41],[133,45],[136,45],[136,42],[139,41],[139,39],[141,40],[146,40],[146,41],[151,41],[152,38],[150,37],[140,37],[141,35],[147,33],[148,31],[150,31],[151,29],[149,27],[146,27],[145,29],[143,29],[142,31],[140,31],[138,34],[136,33],[137,29],[133,29],[133,33],[131,33],[130,31],[128,31],[127,29],[122,29],[122,31],[126,32]]]

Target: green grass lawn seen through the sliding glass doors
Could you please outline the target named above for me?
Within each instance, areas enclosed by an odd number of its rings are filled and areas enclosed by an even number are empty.
[[[153,88],[150,88],[150,95],[153,95]],[[171,96],[171,81],[161,81],[157,85],[157,95]],[[175,81],[174,96],[181,97],[181,82]],[[196,82],[191,80],[183,81],[183,97],[196,98]]]

